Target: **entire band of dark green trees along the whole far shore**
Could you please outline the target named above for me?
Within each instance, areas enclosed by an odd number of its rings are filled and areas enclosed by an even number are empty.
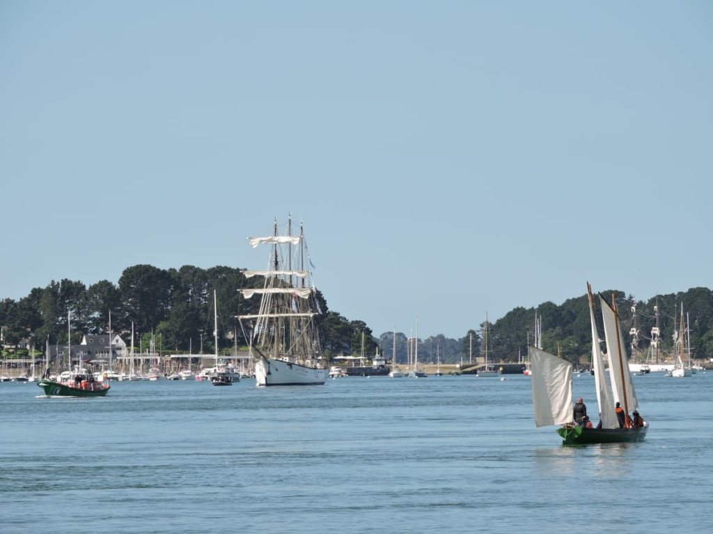
[[[235,318],[239,313],[256,313],[258,299],[244,299],[238,291],[247,287],[240,269],[224,266],[202,269],[183,266],[160,269],[150,265],[126,268],[118,284],[100,281],[91,286],[79,281],[51,281],[45,288],[34,288],[20,300],[0,300],[0,326],[4,345],[17,347],[23,340],[29,345],[43,347],[63,344],[67,339],[67,320],[71,320],[73,344],[85,334],[101,334],[111,330],[128,335],[132,323],[144,342],[151,332],[160,336],[163,352],[198,352],[202,341],[205,352],[213,345],[213,290],[217,294],[218,334],[220,340],[234,339],[244,346],[240,327]],[[644,351],[647,337],[655,326],[655,306],[659,310],[661,348],[672,347],[674,321],[678,320],[681,304],[690,317],[689,333],[694,356],[713,355],[713,292],[709,288],[692,288],[683,293],[658,295],[647,301],[635,300],[620,290],[602,293],[617,302],[627,352]],[[327,300],[317,292],[322,315],[319,315],[322,347],[327,356],[360,355],[362,333],[364,355],[379,352],[386,360],[393,358],[394,333],[375,337],[364,320],[348,320],[329,310]],[[636,310],[636,313],[633,310]],[[586,295],[565,300],[561,305],[545,302],[537,307],[542,318],[543,347],[573,362],[585,362],[591,354],[589,303]],[[598,315],[598,314],[597,314]],[[488,327],[488,345],[497,362],[518,362],[527,355],[528,342],[533,340],[535,308],[515,308]],[[481,355],[483,324],[474,325],[463,337],[452,339],[435,335],[420,339],[419,362],[469,362]],[[603,332],[599,325],[600,333]],[[632,346],[631,328],[638,332],[637,346]],[[678,327],[679,328],[679,327]],[[237,340],[233,338],[237,335]],[[220,342],[221,347],[225,345]],[[143,347],[145,348],[145,347]],[[232,347],[226,347],[230,350]],[[411,342],[411,353],[415,347]],[[14,350],[14,353],[19,351]],[[396,361],[406,362],[409,340],[404,333],[396,333]]]

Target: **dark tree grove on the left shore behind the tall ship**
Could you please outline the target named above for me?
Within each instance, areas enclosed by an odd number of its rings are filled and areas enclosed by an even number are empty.
[[[148,343],[150,333],[154,333],[160,340],[162,352],[193,350],[197,353],[201,346],[210,353],[215,350],[215,290],[219,345],[227,352],[232,350],[225,347],[227,337],[245,345],[235,316],[257,313],[260,305],[259,299],[242,298],[238,290],[245,287],[248,285],[242,271],[224,266],[164,270],[137,265],[126,268],[116,285],[106,280],[91,286],[79,281],[51,281],[45,288],[34,288],[20,300],[0,301],[3,344],[16,349],[19,343],[28,342],[43,350],[46,340],[51,345],[66,344],[68,330],[71,330],[71,343],[78,344],[83,335],[107,333],[111,312],[111,331],[122,334],[125,339],[133,327],[135,339],[141,340],[143,345]],[[329,310],[319,290],[317,298],[323,311],[318,318],[323,333],[322,346],[328,355],[349,353],[353,347],[361,350],[362,332],[366,353],[374,354],[376,340],[364,321],[349,321]],[[69,329],[68,320],[71,321]]]

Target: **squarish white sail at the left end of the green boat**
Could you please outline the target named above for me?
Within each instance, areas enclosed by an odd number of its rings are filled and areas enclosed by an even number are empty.
[[[533,370],[535,426],[572,422],[572,364],[537,347],[528,347]]]

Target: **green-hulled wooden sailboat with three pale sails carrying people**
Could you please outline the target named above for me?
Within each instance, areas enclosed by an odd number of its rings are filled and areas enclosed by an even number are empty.
[[[607,384],[604,356],[600,350],[600,340],[595,324],[594,301],[589,284],[590,315],[592,321],[592,358],[597,388],[597,404],[600,411],[600,426],[588,428],[573,422],[572,375],[573,365],[538,347],[529,347],[533,365],[533,409],[535,426],[559,424],[558,434],[564,444],[599,444],[642,441],[648,423],[641,420],[635,426],[629,417],[621,425],[614,412],[614,403],[623,405],[625,414],[630,410],[637,413],[638,400],[634,391],[629,365],[622,350],[622,333],[616,302],[612,298],[610,306],[600,296],[602,320],[605,329],[607,358],[609,360],[610,384]]]

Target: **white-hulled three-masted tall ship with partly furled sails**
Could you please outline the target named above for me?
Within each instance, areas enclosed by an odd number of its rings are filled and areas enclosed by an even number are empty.
[[[312,271],[304,229],[292,235],[292,219],[287,231],[278,234],[277,221],[272,236],[250,237],[252,248],[270,247],[265,271],[243,271],[245,278],[256,278],[255,287],[240,291],[246,299],[260,295],[257,313],[238,315],[240,329],[255,362],[257,386],[324,384],[329,374],[322,357],[318,315],[322,313]]]

